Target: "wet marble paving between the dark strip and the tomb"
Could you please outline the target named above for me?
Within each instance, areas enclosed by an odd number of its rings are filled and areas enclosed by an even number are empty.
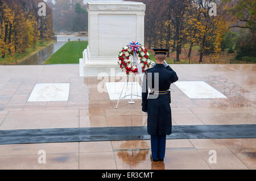
[[[227,98],[204,98],[191,99],[184,94],[175,84],[172,88],[172,114],[174,125],[197,125],[197,124],[255,124],[255,91],[248,90],[254,81],[255,65],[171,65],[177,71],[179,77],[184,81],[204,81],[215,90],[221,92]],[[230,68],[229,68],[230,67]],[[46,65],[35,66],[32,71],[30,66],[0,66],[1,73],[5,73],[5,85],[0,90],[0,109],[2,111],[28,111],[28,117],[19,117],[12,120],[11,125],[17,129],[19,119],[30,120],[29,114],[39,111],[40,114],[47,114],[49,110],[77,110],[88,113],[77,116],[79,124],[69,124],[63,121],[61,125],[52,125],[52,128],[67,127],[122,127],[122,126],[146,126],[147,115],[141,111],[141,100],[134,100],[135,104],[121,100],[118,109],[115,110],[117,100],[110,100],[108,91],[99,92],[99,83],[123,82],[122,78],[107,77],[78,77],[78,70],[74,65]],[[8,74],[16,71],[16,77]],[[33,70],[34,70],[33,69]],[[52,71],[56,72],[53,74]],[[198,72],[201,70],[200,72]],[[24,74],[26,71],[26,74]],[[194,71],[199,73],[193,74]],[[248,76],[247,76],[248,74]],[[26,75],[26,76],[25,76]],[[40,76],[39,76],[40,75]],[[29,76],[29,77],[28,77]],[[230,77],[249,78],[251,81],[241,83],[241,80]],[[32,78],[31,78],[32,77]],[[1,80],[0,80],[1,81]],[[103,81],[103,82],[102,82]],[[111,82],[110,82],[111,81]],[[53,102],[27,102],[36,83],[69,83],[68,100]],[[141,83],[141,82],[140,82]],[[239,83],[239,84],[238,84]],[[245,88],[244,88],[245,87]],[[216,114],[218,113],[218,114]],[[236,113],[236,114],[233,114]],[[240,114],[241,113],[241,114]],[[188,114],[188,115],[187,115]],[[54,117],[54,116],[53,116]],[[76,119],[77,119],[76,118]],[[76,120],[75,119],[75,120]],[[9,114],[0,118],[2,125],[9,123]],[[44,119],[50,123],[49,117]],[[21,123],[22,121],[20,121]],[[15,126],[15,124],[17,124]],[[40,127],[42,125],[42,127]],[[51,127],[51,124],[48,125]],[[11,128],[11,127],[10,127]],[[23,128],[35,128],[26,126]],[[36,128],[45,128],[44,124],[36,125]],[[1,125],[0,125],[1,129]]]

